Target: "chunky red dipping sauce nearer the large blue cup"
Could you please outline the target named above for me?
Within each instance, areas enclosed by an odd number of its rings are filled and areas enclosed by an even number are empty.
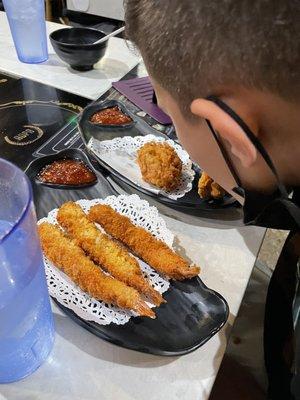
[[[38,174],[44,183],[57,185],[84,185],[96,181],[97,177],[81,160],[62,159],[46,165]]]

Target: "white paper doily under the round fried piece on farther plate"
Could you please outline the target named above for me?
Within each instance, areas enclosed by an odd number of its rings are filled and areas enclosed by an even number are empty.
[[[172,146],[182,161],[182,175],[178,187],[174,190],[158,189],[145,182],[142,178],[140,168],[136,162],[137,151],[149,142],[165,142]],[[177,143],[170,139],[164,139],[154,135],[146,136],[124,136],[111,140],[97,140],[91,138],[88,148],[101,160],[109,164],[116,171],[126,176],[136,185],[144,187],[153,193],[161,193],[164,196],[176,200],[188,193],[193,186],[195,172],[188,153]]]

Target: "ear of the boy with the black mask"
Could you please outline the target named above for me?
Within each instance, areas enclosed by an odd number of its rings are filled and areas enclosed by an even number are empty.
[[[191,112],[210,121],[220,137],[229,144],[231,153],[240,160],[243,167],[249,168],[255,163],[257,150],[250,139],[238,123],[214,102],[196,99],[191,104]]]

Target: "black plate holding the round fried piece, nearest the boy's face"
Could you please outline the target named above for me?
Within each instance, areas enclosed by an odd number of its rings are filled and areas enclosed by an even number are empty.
[[[126,185],[131,186],[134,189],[138,190],[139,192],[142,192],[148,196],[155,198],[161,203],[164,203],[168,206],[172,206],[175,208],[181,208],[181,209],[193,208],[198,210],[209,211],[233,205],[235,206],[237,204],[235,199],[229,195],[225,195],[223,199],[216,199],[216,200],[212,199],[210,201],[201,199],[198,194],[198,180],[199,177],[201,176],[201,171],[195,165],[193,166],[195,171],[195,179],[193,181],[192,190],[190,190],[185,196],[178,198],[177,200],[173,200],[164,196],[163,194],[153,193],[150,190],[135,184],[126,176],[122,175],[114,168],[112,168],[109,164],[98,158],[87,147],[87,144],[92,137],[97,140],[111,140],[116,137],[124,137],[124,136],[135,137],[135,136],[152,134],[158,137],[163,137],[165,139],[168,139],[166,135],[159,133],[157,130],[150,127],[145,121],[143,121],[142,119],[131,113],[121,102],[118,102],[118,104],[122,105],[122,110],[124,111],[126,110],[126,114],[128,114],[135,121],[135,124],[133,126],[130,126],[128,128],[110,127],[108,129],[104,125],[99,127],[97,124],[92,124],[90,122],[91,115],[98,109],[109,107],[108,104],[111,104],[111,101],[100,101],[85,107],[78,121],[78,127],[87,151],[90,152],[90,154],[92,154],[95,158],[97,158],[99,164],[102,167],[104,167],[107,171],[109,171],[113,176],[123,181]]]

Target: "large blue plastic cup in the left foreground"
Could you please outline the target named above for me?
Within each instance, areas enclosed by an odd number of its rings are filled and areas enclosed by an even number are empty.
[[[47,358],[54,324],[27,176],[0,159],[0,383]]]

